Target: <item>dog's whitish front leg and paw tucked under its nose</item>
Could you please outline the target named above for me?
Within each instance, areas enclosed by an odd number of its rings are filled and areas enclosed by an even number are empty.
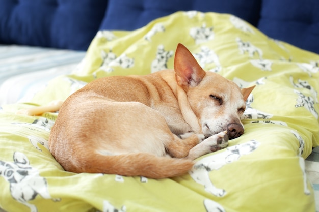
[[[216,135],[212,135],[209,138],[206,138],[205,140],[203,140],[203,142],[194,146],[190,150],[187,158],[194,160],[205,154],[212,153],[222,148],[225,148],[227,147],[227,145],[228,145],[227,131],[223,131]]]

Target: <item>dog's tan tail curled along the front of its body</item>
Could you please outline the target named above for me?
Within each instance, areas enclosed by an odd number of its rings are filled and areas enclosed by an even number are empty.
[[[82,164],[72,172],[119,174],[123,176],[144,176],[148,178],[166,178],[187,173],[194,165],[189,159],[157,157],[148,153],[105,156],[94,154],[89,163]],[[84,162],[84,163],[83,163]]]

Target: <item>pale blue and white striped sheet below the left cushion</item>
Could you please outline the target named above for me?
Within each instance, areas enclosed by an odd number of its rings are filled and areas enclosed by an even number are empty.
[[[75,70],[85,53],[0,45],[0,105],[28,102],[50,79]]]

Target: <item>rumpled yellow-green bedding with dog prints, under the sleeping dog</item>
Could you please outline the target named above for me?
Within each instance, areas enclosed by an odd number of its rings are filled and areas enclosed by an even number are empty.
[[[256,85],[243,115],[245,133],[226,149],[197,159],[188,174],[154,180],[64,171],[47,145],[58,113],[16,114],[64,100],[96,78],[173,68],[177,43],[205,70],[240,87]],[[49,81],[28,104],[2,106],[0,208],[315,211],[305,167],[316,169],[304,159],[319,145],[318,63],[319,55],[268,38],[227,14],[177,12],[135,31],[99,31],[79,68]]]

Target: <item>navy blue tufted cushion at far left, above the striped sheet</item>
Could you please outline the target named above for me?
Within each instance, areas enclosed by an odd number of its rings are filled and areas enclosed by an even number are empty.
[[[0,43],[86,50],[105,0],[0,0]]]

